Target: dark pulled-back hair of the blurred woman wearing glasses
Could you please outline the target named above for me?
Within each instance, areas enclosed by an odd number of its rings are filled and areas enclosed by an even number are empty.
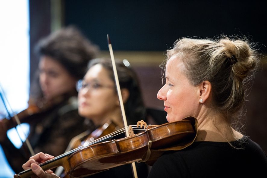
[[[136,124],[139,120],[146,122],[146,108],[143,103],[142,93],[137,75],[131,67],[126,67],[122,61],[115,61],[120,88],[129,90],[129,98],[124,104],[128,124]],[[90,61],[88,68],[101,64],[109,72],[109,77],[115,81],[110,58],[97,58]]]

